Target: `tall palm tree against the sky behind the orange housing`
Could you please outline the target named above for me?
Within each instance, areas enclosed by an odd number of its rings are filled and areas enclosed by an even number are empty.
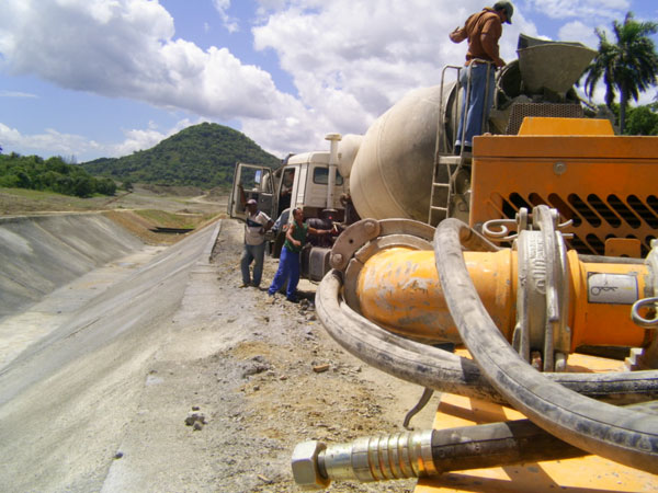
[[[615,90],[620,92],[620,128],[624,131],[628,100],[637,101],[639,93],[658,79],[658,53],[649,37],[658,32],[657,22],[637,22],[628,12],[624,23],[612,23],[616,43],[611,43],[605,32],[597,28],[599,54],[587,68],[585,89],[591,98],[594,87],[603,78],[605,83],[605,105],[611,108]]]

